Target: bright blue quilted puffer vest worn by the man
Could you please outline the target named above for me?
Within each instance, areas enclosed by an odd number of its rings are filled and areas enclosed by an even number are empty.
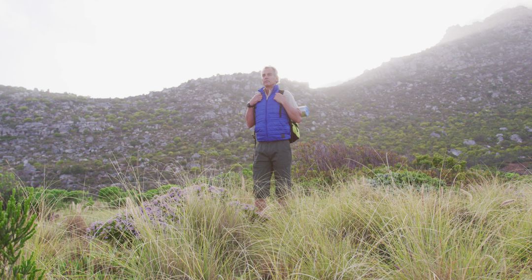
[[[255,106],[255,137],[259,142],[273,142],[290,139],[288,113],[277,101],[273,100],[279,93],[279,85],[275,85],[266,99],[264,87],[259,89],[262,100]],[[281,116],[279,117],[279,107]]]

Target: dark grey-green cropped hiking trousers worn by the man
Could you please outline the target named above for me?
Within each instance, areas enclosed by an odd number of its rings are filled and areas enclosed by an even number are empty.
[[[253,194],[255,198],[270,196],[271,175],[275,177],[275,195],[283,197],[292,187],[290,167],[292,149],[288,140],[257,142],[253,159]]]

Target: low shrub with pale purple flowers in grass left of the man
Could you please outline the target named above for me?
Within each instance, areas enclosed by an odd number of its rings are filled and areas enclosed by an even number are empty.
[[[188,188],[172,187],[165,194],[154,196],[152,200],[143,202],[136,208],[138,218],[146,219],[154,226],[163,229],[171,224],[179,223],[180,208],[189,197],[223,199],[226,189],[215,186],[195,185]],[[87,228],[89,238],[97,238],[109,242],[126,243],[140,238],[135,226],[135,217],[131,214],[121,214],[102,222],[92,223]]]

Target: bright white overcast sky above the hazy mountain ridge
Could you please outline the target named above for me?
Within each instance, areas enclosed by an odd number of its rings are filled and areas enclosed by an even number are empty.
[[[0,0],[0,84],[122,98],[273,65],[318,88],[517,5],[532,0]]]

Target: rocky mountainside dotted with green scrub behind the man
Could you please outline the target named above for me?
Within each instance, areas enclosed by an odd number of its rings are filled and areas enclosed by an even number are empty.
[[[526,166],[532,11],[513,8],[473,25],[450,29],[437,46],[338,86],[310,89],[281,80],[281,88],[311,110],[301,142]],[[0,160],[28,185],[76,189],[109,185],[116,177],[171,181],[180,170],[246,165],[253,139],[243,121],[245,103],[259,87],[257,72],[190,80],[125,99],[0,86]]]

